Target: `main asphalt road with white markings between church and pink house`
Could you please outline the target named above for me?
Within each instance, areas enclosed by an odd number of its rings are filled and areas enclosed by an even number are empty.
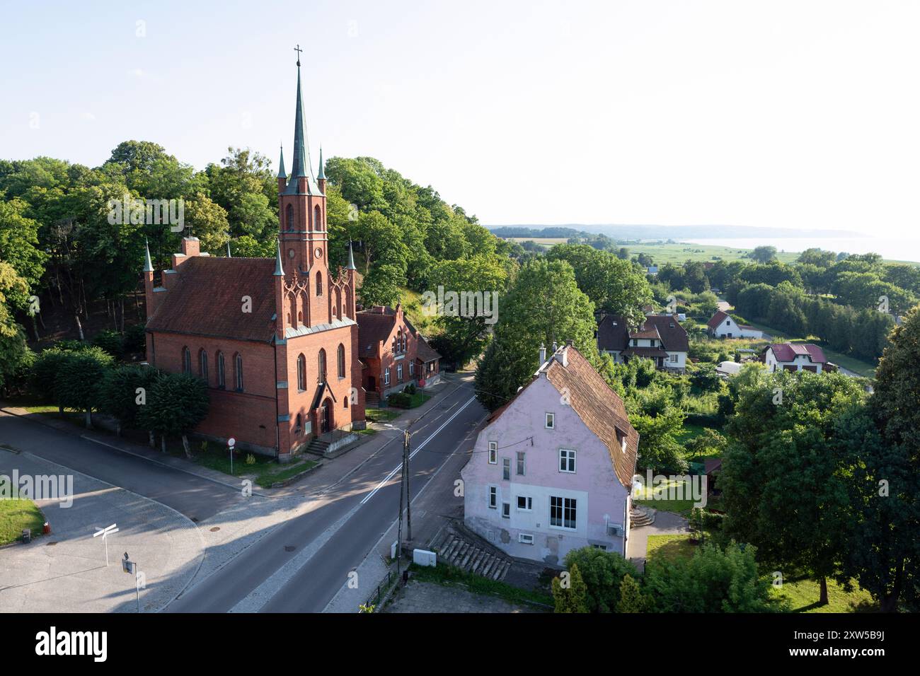
[[[462,386],[411,428],[413,497],[484,416],[471,388]],[[393,440],[327,495],[315,498],[314,509],[273,529],[179,596],[167,612],[224,613],[235,606],[239,609],[237,604],[247,606],[254,591],[259,601],[247,610],[321,612],[397,519],[399,474],[395,470],[401,462],[402,435],[396,430],[385,433],[392,434]],[[334,529],[337,521],[339,527]],[[305,556],[309,557],[302,565],[295,563]]]

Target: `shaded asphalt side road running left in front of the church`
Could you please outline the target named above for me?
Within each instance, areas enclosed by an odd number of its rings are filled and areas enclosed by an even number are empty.
[[[192,521],[203,521],[246,499],[239,491],[200,476],[2,412],[0,443],[155,499]]]

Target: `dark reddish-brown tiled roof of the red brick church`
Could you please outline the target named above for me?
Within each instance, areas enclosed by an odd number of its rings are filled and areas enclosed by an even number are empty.
[[[270,342],[275,332],[274,258],[190,257],[174,274],[148,331]],[[242,312],[242,297],[252,312]]]

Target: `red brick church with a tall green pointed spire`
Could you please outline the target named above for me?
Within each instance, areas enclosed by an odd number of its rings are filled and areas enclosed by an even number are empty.
[[[293,166],[278,172],[278,254],[217,258],[182,240],[154,286],[147,253],[147,361],[204,379],[211,409],[196,430],[287,461],[316,437],[364,426],[355,267],[328,268],[326,176],[314,176],[297,63]]]

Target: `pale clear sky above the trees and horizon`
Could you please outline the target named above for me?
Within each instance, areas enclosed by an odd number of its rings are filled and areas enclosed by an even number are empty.
[[[0,157],[274,165],[299,42],[314,161],[372,155],[482,223],[915,235],[918,34],[913,0],[6,2]]]

